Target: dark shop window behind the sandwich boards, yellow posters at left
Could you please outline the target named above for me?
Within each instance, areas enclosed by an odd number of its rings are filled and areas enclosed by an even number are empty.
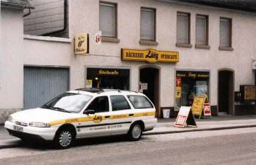
[[[180,106],[192,106],[194,97],[200,95],[209,99],[209,72],[176,71],[176,109]]]

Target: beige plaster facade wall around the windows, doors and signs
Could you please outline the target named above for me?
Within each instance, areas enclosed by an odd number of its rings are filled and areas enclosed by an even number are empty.
[[[70,36],[77,33],[90,34],[90,54],[74,56],[72,43],[52,43],[25,39],[24,63],[28,65],[67,65],[70,66],[70,88],[85,85],[85,66],[116,66],[131,68],[131,90],[138,89],[139,67],[154,65],[161,68],[160,106],[174,106],[175,70],[209,70],[210,99],[217,105],[217,70],[229,68],[235,71],[235,90],[241,84],[254,84],[252,57],[255,57],[256,38],[255,15],[218,10],[215,8],[193,7],[149,0],[108,0],[117,3],[117,31],[119,44],[93,43],[93,36],[99,30],[99,1],[70,1]],[[156,8],[157,46],[140,45],[140,7]],[[192,48],[176,47],[177,11],[191,13]],[[195,15],[209,15],[210,50],[194,48]],[[219,27],[220,17],[232,18],[232,47],[234,51],[220,51]],[[33,46],[33,48],[31,48]],[[145,49],[156,48],[180,52],[180,62],[149,64],[145,62],[122,62],[121,48]]]

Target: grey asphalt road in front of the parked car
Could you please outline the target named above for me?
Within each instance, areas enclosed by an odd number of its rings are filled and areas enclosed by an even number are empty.
[[[256,128],[77,141],[70,149],[1,149],[0,164],[256,164]]]

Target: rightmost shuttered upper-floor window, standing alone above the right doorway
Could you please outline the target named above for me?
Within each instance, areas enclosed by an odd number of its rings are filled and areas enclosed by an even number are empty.
[[[232,19],[220,18],[220,49],[232,48]]]

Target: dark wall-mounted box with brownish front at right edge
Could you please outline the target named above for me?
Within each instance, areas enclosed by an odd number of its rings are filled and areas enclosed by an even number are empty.
[[[240,85],[242,101],[255,102],[256,100],[256,86],[254,85]]]

